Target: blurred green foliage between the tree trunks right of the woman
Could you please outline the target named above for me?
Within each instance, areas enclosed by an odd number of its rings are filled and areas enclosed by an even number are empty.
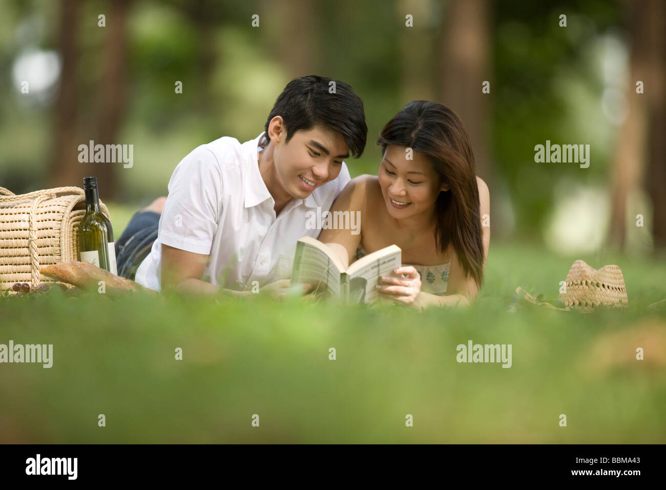
[[[553,207],[554,183],[609,175],[617,128],[601,109],[607,43],[625,27],[619,2],[530,2],[496,5],[493,143],[498,173],[514,205],[517,233],[541,227]],[[559,27],[559,15],[567,27]],[[621,53],[617,53],[621,55]],[[534,165],[534,146],[591,143],[593,165]]]

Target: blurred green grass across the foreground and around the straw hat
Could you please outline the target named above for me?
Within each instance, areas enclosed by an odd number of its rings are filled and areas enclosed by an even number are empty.
[[[617,263],[629,311],[507,311],[518,285],[556,299],[575,258]],[[601,259],[491,244],[482,294],[460,311],[0,299],[0,343],[53,344],[50,369],[1,367],[0,442],[664,443],[666,311],[647,305],[666,297],[666,262]],[[511,344],[510,369],[458,363],[470,340]]]

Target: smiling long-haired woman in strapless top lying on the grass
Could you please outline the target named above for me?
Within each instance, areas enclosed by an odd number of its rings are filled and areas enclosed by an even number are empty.
[[[468,305],[482,285],[490,244],[490,195],[476,177],[467,131],[440,103],[413,101],[382,129],[377,176],[361,175],[331,211],[360,211],[360,233],[324,229],[342,261],[388,245],[402,249],[384,297],[412,307]],[[488,215],[488,216],[484,216]]]

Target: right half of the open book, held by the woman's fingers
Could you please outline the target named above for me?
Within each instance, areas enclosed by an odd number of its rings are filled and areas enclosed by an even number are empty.
[[[402,265],[402,251],[396,245],[370,253],[358,259],[347,269],[349,301],[373,303],[379,297],[376,285],[382,275],[393,275],[393,270]]]

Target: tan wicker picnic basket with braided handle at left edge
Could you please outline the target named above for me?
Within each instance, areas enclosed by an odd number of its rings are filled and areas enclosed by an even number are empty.
[[[99,207],[111,219],[109,209]],[[0,291],[14,283],[53,282],[41,265],[79,260],[79,225],[85,194],[79,187],[57,187],[15,195],[0,187]]]

